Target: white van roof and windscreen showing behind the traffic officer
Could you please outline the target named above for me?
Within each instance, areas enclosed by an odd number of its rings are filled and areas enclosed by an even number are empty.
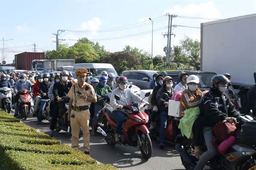
[[[94,76],[101,76],[101,72],[106,71],[107,73],[113,73],[115,77],[117,76],[117,72],[112,66],[112,64],[108,63],[77,63],[74,64],[74,72],[77,68],[86,68],[88,72],[93,73]]]

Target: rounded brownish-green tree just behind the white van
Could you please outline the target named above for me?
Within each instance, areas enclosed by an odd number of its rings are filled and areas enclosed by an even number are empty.
[[[103,57],[102,63],[110,63],[114,66],[118,74],[125,70],[132,70],[140,63],[139,57],[125,51],[110,53],[107,57]]]

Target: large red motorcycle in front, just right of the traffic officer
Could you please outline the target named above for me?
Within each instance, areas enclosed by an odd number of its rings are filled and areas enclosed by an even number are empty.
[[[149,96],[150,92],[146,93],[145,97]],[[120,97],[115,95],[116,100]],[[122,100],[120,100],[122,101]],[[124,102],[124,101],[123,101]],[[124,102],[125,103],[125,102]],[[105,103],[103,108],[103,129],[98,127],[99,132],[105,136],[105,140],[110,146],[114,146],[117,142],[115,140],[115,131],[117,119],[113,116],[113,108]],[[148,115],[140,112],[145,103],[132,102],[131,105],[125,105],[123,112],[125,113],[125,123],[122,128],[122,134],[119,135],[120,141],[118,143],[134,146],[139,146],[144,158],[149,159],[152,155],[152,143],[148,135],[149,131],[146,127],[148,123]]]

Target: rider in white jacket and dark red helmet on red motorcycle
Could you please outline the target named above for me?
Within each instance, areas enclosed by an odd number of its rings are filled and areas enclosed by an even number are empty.
[[[119,77],[118,87],[113,90],[112,95],[110,97],[110,105],[114,109],[113,116],[115,116],[117,119],[115,134],[116,141],[120,140],[119,135],[121,135],[122,133],[122,126],[124,124],[124,112],[120,110],[123,109],[124,105],[131,104],[132,101],[140,102],[142,100],[142,98],[140,98],[137,94],[133,93],[130,88],[127,88],[127,82],[128,79],[125,76]],[[116,98],[114,97],[115,94],[120,96],[120,100],[116,100]],[[146,103],[146,101],[144,100],[142,100],[142,102]]]

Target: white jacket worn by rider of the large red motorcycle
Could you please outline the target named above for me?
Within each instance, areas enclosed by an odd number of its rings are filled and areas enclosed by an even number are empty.
[[[115,94],[117,96],[120,96],[120,100],[117,101],[115,99]],[[110,105],[114,108],[114,110],[117,110],[118,107],[126,105],[123,101],[127,103],[127,105],[131,104],[132,101],[140,102],[142,98],[140,98],[137,94],[133,93],[131,89],[126,88],[124,90],[121,90],[119,87],[113,90],[111,97],[110,97]],[[144,102],[144,100],[142,100]]]

